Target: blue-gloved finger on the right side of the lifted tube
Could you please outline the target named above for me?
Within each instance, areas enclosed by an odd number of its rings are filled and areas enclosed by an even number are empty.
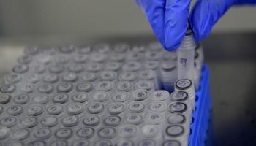
[[[197,42],[205,39],[211,28],[233,5],[234,0],[197,0],[189,16],[189,26]]]

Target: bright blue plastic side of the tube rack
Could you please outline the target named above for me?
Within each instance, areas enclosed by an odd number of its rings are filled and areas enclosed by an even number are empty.
[[[189,146],[214,145],[212,137],[208,134],[211,120],[211,96],[209,70],[203,65],[200,87],[196,92],[195,111],[192,113],[190,126]]]

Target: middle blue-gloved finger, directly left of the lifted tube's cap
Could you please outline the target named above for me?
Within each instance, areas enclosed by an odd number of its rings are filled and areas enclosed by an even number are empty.
[[[191,0],[166,0],[165,45],[167,50],[177,49],[187,31]]]

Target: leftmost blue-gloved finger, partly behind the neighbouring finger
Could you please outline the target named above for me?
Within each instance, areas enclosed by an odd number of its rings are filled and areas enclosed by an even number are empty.
[[[165,17],[165,0],[137,0],[140,8],[146,14],[151,28],[156,34],[159,42],[165,47],[164,37],[164,17]]]

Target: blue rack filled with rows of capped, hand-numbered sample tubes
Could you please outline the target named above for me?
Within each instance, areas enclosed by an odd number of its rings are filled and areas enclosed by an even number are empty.
[[[0,86],[0,143],[205,145],[208,69],[193,51],[177,80],[178,53],[158,42],[27,47]]]

